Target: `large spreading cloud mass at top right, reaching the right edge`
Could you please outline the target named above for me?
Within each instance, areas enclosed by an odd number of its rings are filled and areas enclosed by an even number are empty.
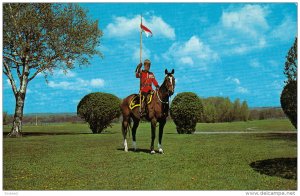
[[[219,55],[245,55],[291,42],[297,35],[297,20],[286,15],[282,21],[270,20],[271,7],[266,4],[234,5],[223,10],[219,22],[205,33],[208,43],[219,49]],[[274,14],[274,13],[272,13]],[[274,23],[279,24],[274,25]],[[255,67],[255,65],[254,65]]]

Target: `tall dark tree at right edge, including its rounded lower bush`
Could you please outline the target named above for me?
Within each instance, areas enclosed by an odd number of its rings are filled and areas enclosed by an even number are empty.
[[[285,81],[280,103],[284,113],[288,116],[292,124],[297,128],[297,37],[293,46],[286,56],[284,74],[287,77]]]

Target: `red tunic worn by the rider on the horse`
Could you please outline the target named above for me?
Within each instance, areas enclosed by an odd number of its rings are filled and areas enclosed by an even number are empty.
[[[158,82],[152,72],[143,70],[142,72],[136,72],[135,76],[136,78],[140,78],[140,88],[142,92],[148,93],[152,91],[152,83],[158,87]]]

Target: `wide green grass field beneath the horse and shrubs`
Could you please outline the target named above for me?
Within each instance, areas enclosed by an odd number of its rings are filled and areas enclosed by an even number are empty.
[[[297,158],[297,134],[288,120],[198,124],[196,132],[179,135],[168,122],[165,154],[150,155],[149,123],[138,129],[138,151],[128,153],[120,123],[103,134],[91,134],[86,124],[24,126],[24,137],[3,138],[3,189],[297,189],[290,162]],[[260,166],[263,160],[272,164]]]

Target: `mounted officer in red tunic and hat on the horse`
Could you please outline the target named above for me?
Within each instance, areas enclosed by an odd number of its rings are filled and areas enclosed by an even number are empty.
[[[159,88],[158,82],[155,79],[155,76],[152,72],[150,72],[151,62],[150,60],[146,59],[144,61],[144,70],[141,70],[142,63],[138,64],[135,70],[136,78],[140,78],[140,92],[141,92],[141,100],[144,101],[141,103],[141,116],[146,115],[146,107],[147,107],[147,96],[148,94],[153,91],[152,84]]]

